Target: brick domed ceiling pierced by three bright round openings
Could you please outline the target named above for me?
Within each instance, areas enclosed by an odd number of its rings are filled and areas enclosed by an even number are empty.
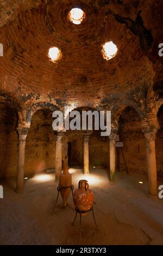
[[[47,93],[61,102],[91,100],[99,105],[141,99],[153,86],[161,95],[161,2],[1,1],[0,85],[24,100]],[[68,20],[73,7],[85,12],[80,25]],[[118,48],[109,61],[101,52],[106,41]],[[48,58],[53,46],[62,53],[57,63]]]

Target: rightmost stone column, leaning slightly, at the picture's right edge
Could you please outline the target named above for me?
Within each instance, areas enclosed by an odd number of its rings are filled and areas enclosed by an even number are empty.
[[[155,132],[145,133],[146,138],[146,154],[148,166],[148,187],[149,193],[157,195],[157,169],[155,156]]]

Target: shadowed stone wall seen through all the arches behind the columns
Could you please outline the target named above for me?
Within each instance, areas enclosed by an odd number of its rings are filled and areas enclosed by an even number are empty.
[[[160,130],[156,134],[156,163],[158,174],[163,170],[163,111],[158,113]],[[0,177],[16,176],[17,171],[17,115],[14,110],[1,105],[0,120]],[[124,143],[124,156],[129,171],[147,172],[146,141],[141,130],[139,115],[131,108],[124,110],[120,117],[121,140]],[[66,132],[65,142],[71,144],[70,166],[83,166],[83,135],[79,132]],[[64,148],[64,147],[63,147]],[[109,138],[94,132],[89,141],[90,166],[109,168]],[[120,160],[123,162],[122,153]],[[33,175],[55,168],[55,135],[52,131],[52,112],[39,110],[32,117],[27,135],[25,155],[25,175]],[[124,166],[121,166],[121,170]]]

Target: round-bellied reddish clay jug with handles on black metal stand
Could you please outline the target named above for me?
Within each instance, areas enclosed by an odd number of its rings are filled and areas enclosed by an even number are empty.
[[[78,189],[73,193],[73,203],[78,211],[89,211],[94,202],[94,194],[86,180],[79,181]]]

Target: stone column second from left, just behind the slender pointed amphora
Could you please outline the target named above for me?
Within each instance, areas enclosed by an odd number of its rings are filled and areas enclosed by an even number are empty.
[[[55,181],[59,181],[62,171],[62,132],[57,133],[56,150],[55,150]]]

